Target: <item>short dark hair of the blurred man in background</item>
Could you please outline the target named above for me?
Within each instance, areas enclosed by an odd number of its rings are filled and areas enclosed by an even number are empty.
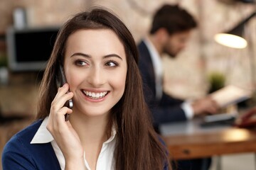
[[[174,34],[196,28],[196,21],[188,11],[178,5],[164,5],[154,14],[150,33],[154,34],[159,28],[166,28]]]

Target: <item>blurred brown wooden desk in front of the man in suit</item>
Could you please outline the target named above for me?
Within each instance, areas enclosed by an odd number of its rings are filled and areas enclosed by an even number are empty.
[[[228,125],[201,128],[200,120],[161,125],[172,159],[193,159],[221,154],[256,152],[256,130]]]

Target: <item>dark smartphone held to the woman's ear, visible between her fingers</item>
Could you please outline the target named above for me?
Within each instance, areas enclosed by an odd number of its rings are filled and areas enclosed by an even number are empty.
[[[67,83],[67,79],[65,78],[65,72],[64,72],[64,69],[63,69],[63,66],[60,64],[60,69],[59,69],[59,73],[58,73],[58,79],[57,79],[59,82],[57,84],[59,84],[59,86],[63,86],[64,84]],[[68,90],[68,92],[70,92]],[[65,105],[66,107],[68,108],[73,108],[73,101],[72,99],[69,99],[68,101],[66,101]],[[65,114],[65,121],[68,121],[69,120],[69,114]]]

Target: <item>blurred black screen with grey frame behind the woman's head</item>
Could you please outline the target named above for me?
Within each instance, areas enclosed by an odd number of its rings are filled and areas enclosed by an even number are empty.
[[[58,30],[58,27],[8,28],[6,40],[10,71],[43,71],[53,50]]]

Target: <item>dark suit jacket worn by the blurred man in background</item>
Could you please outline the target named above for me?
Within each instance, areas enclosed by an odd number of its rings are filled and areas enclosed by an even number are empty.
[[[139,69],[144,83],[144,96],[153,114],[154,125],[186,120],[186,115],[181,108],[182,100],[173,98],[164,91],[161,99],[156,98],[154,67],[149,50],[143,41],[139,43],[138,50]]]

